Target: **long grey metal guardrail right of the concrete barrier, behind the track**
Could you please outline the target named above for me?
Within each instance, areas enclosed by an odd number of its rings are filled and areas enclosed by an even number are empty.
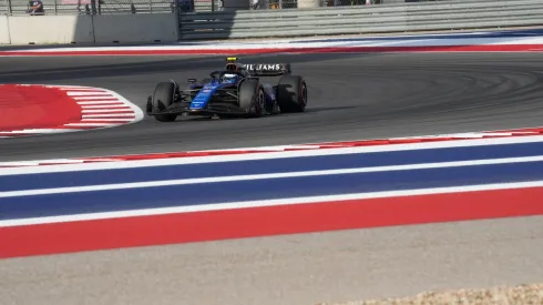
[[[488,29],[543,26],[542,17],[541,0],[189,12],[180,14],[180,37],[193,40]]]

